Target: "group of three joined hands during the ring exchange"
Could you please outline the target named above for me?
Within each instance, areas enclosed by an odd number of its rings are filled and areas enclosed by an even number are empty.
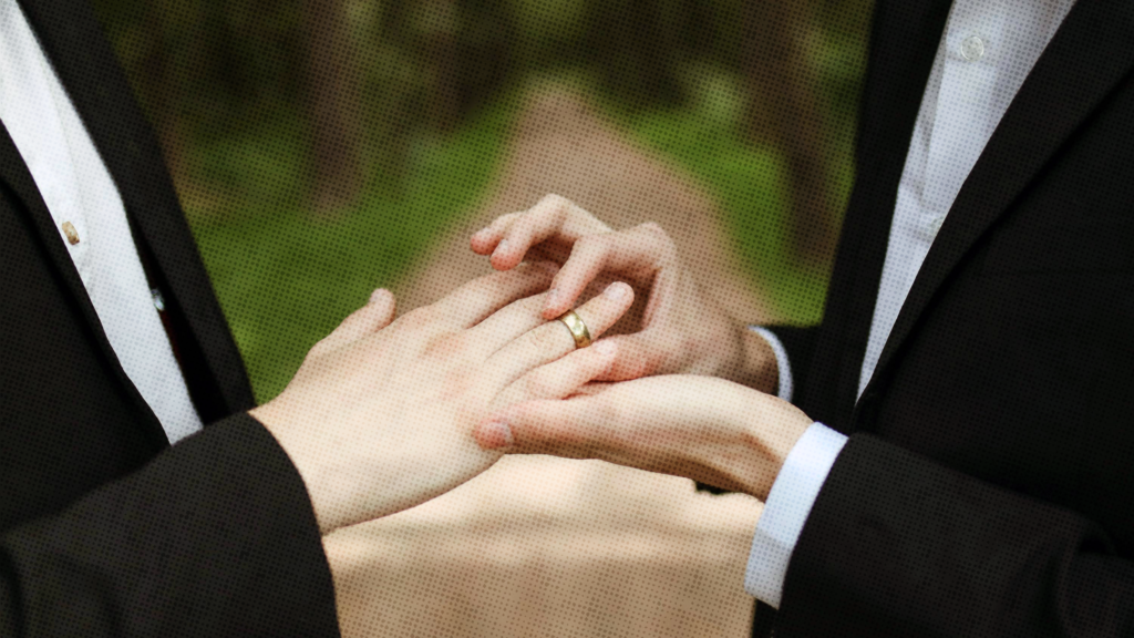
[[[552,196],[472,247],[500,271],[397,320],[392,295],[375,292],[252,411],[323,532],[423,503],[503,453],[603,459],[767,497],[811,420],[767,394],[770,346],[701,296],[661,228],[616,233]],[[648,300],[640,314],[615,279]],[[624,316],[628,334],[576,350],[553,319],[609,280],[576,312],[595,339]]]

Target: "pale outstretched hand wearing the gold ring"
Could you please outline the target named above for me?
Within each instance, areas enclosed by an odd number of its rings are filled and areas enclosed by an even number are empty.
[[[545,294],[521,299],[545,289],[552,270],[482,277],[392,324],[393,296],[375,292],[252,411],[298,469],[324,534],[473,478],[500,457],[471,436],[490,411],[569,396],[607,371],[612,344],[576,351],[562,324],[540,317]],[[633,296],[616,283],[577,312],[596,338]]]

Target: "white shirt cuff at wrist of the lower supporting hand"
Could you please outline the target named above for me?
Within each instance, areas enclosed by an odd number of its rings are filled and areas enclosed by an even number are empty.
[[[752,539],[744,589],[777,610],[792,552],[846,442],[846,436],[812,423],[788,453],[768,494]]]

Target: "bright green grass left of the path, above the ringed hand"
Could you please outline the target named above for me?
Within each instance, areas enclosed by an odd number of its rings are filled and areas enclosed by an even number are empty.
[[[433,237],[484,193],[498,166],[513,100],[499,100],[450,136],[422,136],[404,190],[375,183],[338,221],[313,219],[295,200],[243,201],[213,219],[189,209],[209,275],[248,367],[256,397],[287,385],[307,350],[370,293],[389,286],[421,258]],[[294,174],[287,152],[260,143],[228,146],[215,161],[248,166],[252,192],[268,192]],[[291,156],[294,157],[294,152]],[[289,163],[290,162],[290,163]]]

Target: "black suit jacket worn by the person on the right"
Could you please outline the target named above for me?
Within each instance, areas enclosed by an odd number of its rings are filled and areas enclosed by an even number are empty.
[[[1134,5],[1078,0],[855,400],[948,0],[879,0],[858,178],[796,402],[850,438],[777,636],[1134,635]]]

